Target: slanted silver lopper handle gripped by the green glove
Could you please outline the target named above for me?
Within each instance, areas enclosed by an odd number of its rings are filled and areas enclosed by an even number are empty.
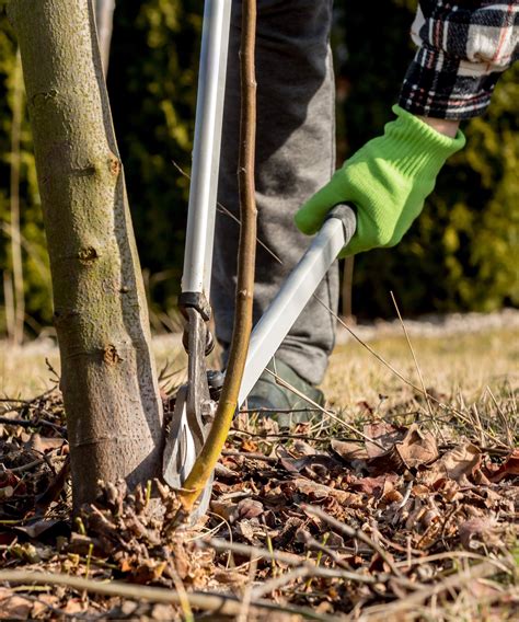
[[[356,227],[355,211],[347,205],[336,206],[262,315],[251,336],[238,400],[239,407],[246,400],[338,253],[351,239]]]

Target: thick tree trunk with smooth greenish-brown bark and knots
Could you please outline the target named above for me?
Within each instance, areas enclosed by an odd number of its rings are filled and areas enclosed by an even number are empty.
[[[162,406],[91,0],[12,0],[54,288],[76,509],[157,476]]]

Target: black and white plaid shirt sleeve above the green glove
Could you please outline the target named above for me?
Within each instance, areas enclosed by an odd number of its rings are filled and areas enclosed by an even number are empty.
[[[418,50],[400,105],[437,118],[478,116],[519,57],[519,2],[422,0],[411,35]]]

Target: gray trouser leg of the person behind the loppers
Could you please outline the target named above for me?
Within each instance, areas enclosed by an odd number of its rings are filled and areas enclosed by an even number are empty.
[[[234,2],[223,118],[219,201],[238,215],[241,7]],[[309,245],[293,214],[335,168],[334,80],[328,45],[332,0],[258,0],[256,80],[256,199],[258,239],[254,322]],[[212,304],[220,342],[230,343],[234,312],[239,226],[217,216]],[[336,310],[334,265],[316,291]],[[319,384],[334,345],[333,316],[311,300],[277,353],[304,380]]]

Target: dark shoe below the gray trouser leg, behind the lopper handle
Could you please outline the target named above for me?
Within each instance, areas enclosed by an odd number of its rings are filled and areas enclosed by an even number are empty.
[[[281,360],[270,360],[267,369],[274,371],[282,381],[298,390],[312,402],[324,405],[324,394],[303,380],[291,367]],[[247,410],[262,415],[273,416],[280,427],[290,423],[303,423],[315,416],[315,406],[290,391],[276,377],[265,370],[247,398]],[[303,412],[307,410],[307,412]],[[296,412],[293,412],[296,411]]]

